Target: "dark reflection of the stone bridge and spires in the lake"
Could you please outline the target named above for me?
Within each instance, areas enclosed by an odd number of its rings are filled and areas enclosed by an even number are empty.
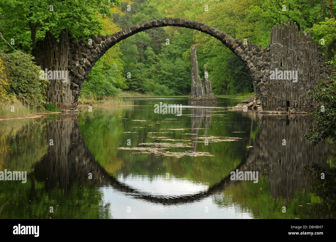
[[[204,135],[211,125],[211,108],[192,110],[191,150],[196,150],[201,125],[205,124]],[[311,188],[316,179],[309,176],[304,168],[312,162],[322,167],[327,158],[328,146],[320,144],[312,147],[302,136],[302,133],[308,131],[308,118],[301,115],[256,115],[253,112],[246,112],[244,115],[248,115],[252,122],[259,119],[259,127],[253,147],[236,168],[239,171],[258,171],[259,180],[267,179],[269,193],[274,199],[293,200],[298,190]],[[35,165],[34,176],[38,182],[45,183],[47,191],[58,186],[67,193],[73,184],[86,184],[91,187],[109,185],[137,199],[160,204],[179,204],[225,192],[241,183],[231,181],[230,174],[227,174],[221,182],[204,192],[173,198],[156,196],[119,182],[96,162],[83,142],[77,116],[61,115],[52,120],[47,125],[46,137],[53,139],[57,145],[50,146],[46,155]],[[286,140],[285,146],[282,145],[283,139]],[[89,173],[92,174],[92,179],[88,179]]]

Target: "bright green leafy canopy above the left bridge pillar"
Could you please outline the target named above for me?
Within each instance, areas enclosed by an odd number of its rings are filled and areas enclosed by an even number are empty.
[[[110,17],[109,5],[113,4],[118,5],[119,1],[92,0],[89,4],[86,0],[1,1],[0,11],[5,15],[1,19],[5,26],[3,36],[6,40],[14,39],[16,48],[28,52],[48,31],[55,37],[64,29],[68,29],[73,37],[96,35],[103,28],[97,12]]]

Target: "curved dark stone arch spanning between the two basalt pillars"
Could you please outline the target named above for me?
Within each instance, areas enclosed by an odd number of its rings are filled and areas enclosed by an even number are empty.
[[[144,30],[148,30],[156,27],[164,26],[178,26],[183,28],[189,28],[201,31],[208,35],[220,40],[226,47],[228,47],[233,53],[235,53],[240,60],[243,61],[246,69],[249,71],[253,82],[257,87],[258,94],[261,97],[262,107],[263,102],[266,100],[265,83],[261,82],[260,78],[263,77],[263,69],[269,66],[266,58],[270,56],[270,48],[262,48],[260,45],[244,44],[241,39],[234,39],[226,33],[205,25],[203,23],[180,19],[180,18],[168,18],[155,19],[143,23],[138,23],[122,31],[119,31],[112,36],[110,35],[97,35],[93,39],[94,43],[91,45],[85,43],[83,39],[79,39],[78,42],[72,43],[69,48],[69,60],[68,69],[70,70],[70,89],[71,89],[71,101],[76,107],[78,104],[78,97],[82,84],[90,73],[91,68],[97,60],[116,43]],[[268,58],[269,59],[269,58]],[[268,67],[269,68],[269,67]],[[259,85],[258,85],[259,84]]]

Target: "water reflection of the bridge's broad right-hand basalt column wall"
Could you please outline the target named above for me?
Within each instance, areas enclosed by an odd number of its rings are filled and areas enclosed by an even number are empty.
[[[259,176],[267,178],[273,198],[292,200],[299,189],[316,183],[304,168],[312,162],[323,166],[328,146],[320,143],[312,147],[303,137],[311,124],[306,116],[258,114],[257,117],[260,120],[254,147],[240,170],[259,171]]]

